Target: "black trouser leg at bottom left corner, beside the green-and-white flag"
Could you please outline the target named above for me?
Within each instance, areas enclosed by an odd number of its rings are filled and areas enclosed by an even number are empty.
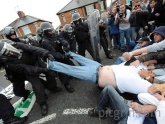
[[[12,117],[14,117],[13,106],[4,95],[0,94],[0,118],[7,121]]]

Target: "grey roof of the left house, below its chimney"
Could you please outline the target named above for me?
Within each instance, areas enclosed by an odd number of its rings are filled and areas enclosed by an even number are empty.
[[[15,21],[13,21],[8,26],[11,26],[14,29],[16,29],[18,27],[22,27],[24,25],[28,25],[30,23],[37,22],[37,21],[46,21],[46,20],[39,19],[39,18],[36,18],[36,17],[33,17],[33,16],[29,16],[29,15],[25,15],[23,18],[16,19]],[[49,21],[46,21],[46,22],[49,22]]]

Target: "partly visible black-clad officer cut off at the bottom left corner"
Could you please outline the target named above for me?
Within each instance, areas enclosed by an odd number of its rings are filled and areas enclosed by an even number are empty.
[[[0,118],[4,124],[23,124],[27,120],[27,116],[19,118],[14,116],[14,108],[8,99],[0,94]]]

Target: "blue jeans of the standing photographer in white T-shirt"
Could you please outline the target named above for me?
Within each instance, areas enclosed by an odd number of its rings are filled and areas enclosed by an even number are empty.
[[[126,38],[127,51],[129,51],[129,42],[130,42],[130,28],[126,30],[119,30],[120,32],[120,45],[121,49],[124,49],[124,37]]]

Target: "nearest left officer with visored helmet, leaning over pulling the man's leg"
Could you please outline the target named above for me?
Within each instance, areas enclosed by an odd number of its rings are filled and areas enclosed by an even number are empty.
[[[10,44],[11,45],[10,45]],[[51,92],[59,92],[61,88],[56,86],[56,82],[52,71],[43,65],[39,65],[37,57],[45,57],[53,60],[49,51],[27,45],[21,42],[13,42],[8,39],[0,41],[0,64],[4,66],[8,77],[13,83],[13,91],[17,96],[24,96],[26,93],[24,81],[27,80],[32,84],[33,91],[36,95],[36,101],[40,105],[41,114],[44,116],[48,113],[48,105],[46,103],[47,96],[45,89],[40,81],[39,75],[44,73],[47,77],[47,89]],[[19,78],[21,81],[19,82]],[[17,83],[17,81],[19,83]]]

